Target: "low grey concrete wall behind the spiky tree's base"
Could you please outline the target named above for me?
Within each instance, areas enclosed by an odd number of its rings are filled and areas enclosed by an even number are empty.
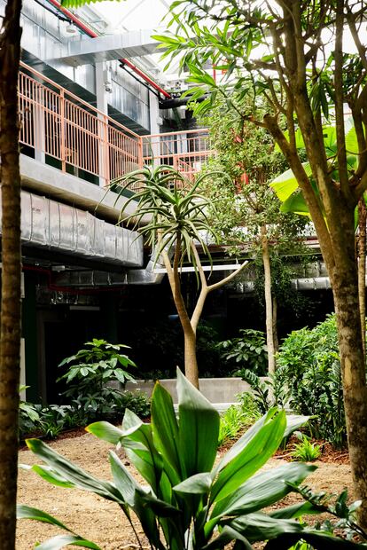
[[[143,380],[137,381],[137,384],[128,382],[125,389],[128,391],[140,389],[150,397],[152,395],[154,383],[155,381]],[[168,389],[174,403],[176,404],[176,379],[171,378],[161,380],[160,383],[164,386],[164,388]],[[249,384],[240,378],[201,378],[199,381],[199,386],[202,394],[207,397],[211,403],[234,403],[238,393],[251,390]]]

